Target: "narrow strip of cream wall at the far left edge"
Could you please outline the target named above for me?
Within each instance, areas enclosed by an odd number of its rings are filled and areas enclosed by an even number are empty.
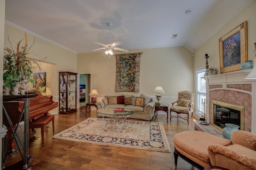
[[[0,0],[0,54],[4,54],[4,18],[5,18],[5,0]],[[3,65],[3,55],[0,55],[0,66]],[[3,70],[0,69],[0,84],[3,84]],[[3,91],[3,86],[0,86],[0,92]],[[0,108],[2,110],[3,107],[3,96],[0,95]],[[2,111],[0,111],[0,133],[4,135],[2,132],[4,131],[3,122],[2,122]],[[0,137],[0,153],[2,153],[2,137]],[[2,154],[0,154],[0,164],[2,165]]]

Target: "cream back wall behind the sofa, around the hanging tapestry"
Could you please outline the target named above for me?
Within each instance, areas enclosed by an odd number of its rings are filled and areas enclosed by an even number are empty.
[[[155,96],[156,86],[162,86],[165,94],[160,102],[171,104],[179,91],[193,91],[193,58],[185,47],[166,47],[132,50],[143,52],[140,59],[140,92],[115,92],[116,59],[106,57],[104,52],[78,54],[77,72],[92,72],[92,88],[101,96],[132,94]],[[117,51],[114,53],[118,54]],[[102,97],[97,97],[100,101]]]

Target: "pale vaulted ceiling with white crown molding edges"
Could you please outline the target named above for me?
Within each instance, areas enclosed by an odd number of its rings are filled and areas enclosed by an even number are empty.
[[[120,48],[183,45],[194,51],[254,1],[6,0],[5,20],[76,53],[102,47],[92,41],[109,43],[106,23],[112,23],[111,43],[121,41]]]

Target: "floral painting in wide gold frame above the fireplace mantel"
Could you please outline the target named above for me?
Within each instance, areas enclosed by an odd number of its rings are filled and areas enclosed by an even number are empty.
[[[246,21],[219,39],[220,73],[241,70],[247,61]]]

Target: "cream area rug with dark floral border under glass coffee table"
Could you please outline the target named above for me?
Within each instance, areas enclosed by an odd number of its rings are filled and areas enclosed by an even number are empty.
[[[106,126],[106,123],[107,126]],[[106,126],[106,127],[105,127]],[[171,152],[162,122],[125,121],[90,117],[53,138],[99,145]]]

